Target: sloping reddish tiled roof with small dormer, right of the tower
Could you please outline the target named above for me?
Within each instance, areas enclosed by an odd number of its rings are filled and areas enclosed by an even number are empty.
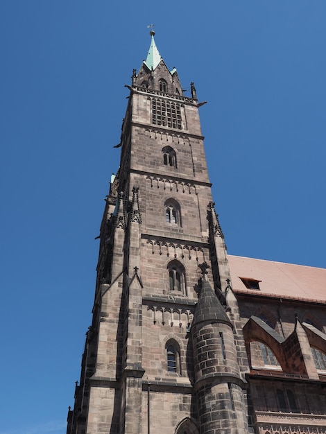
[[[293,263],[229,255],[232,288],[237,293],[271,295],[326,302],[326,269]],[[248,289],[241,277],[259,281],[259,290]]]

